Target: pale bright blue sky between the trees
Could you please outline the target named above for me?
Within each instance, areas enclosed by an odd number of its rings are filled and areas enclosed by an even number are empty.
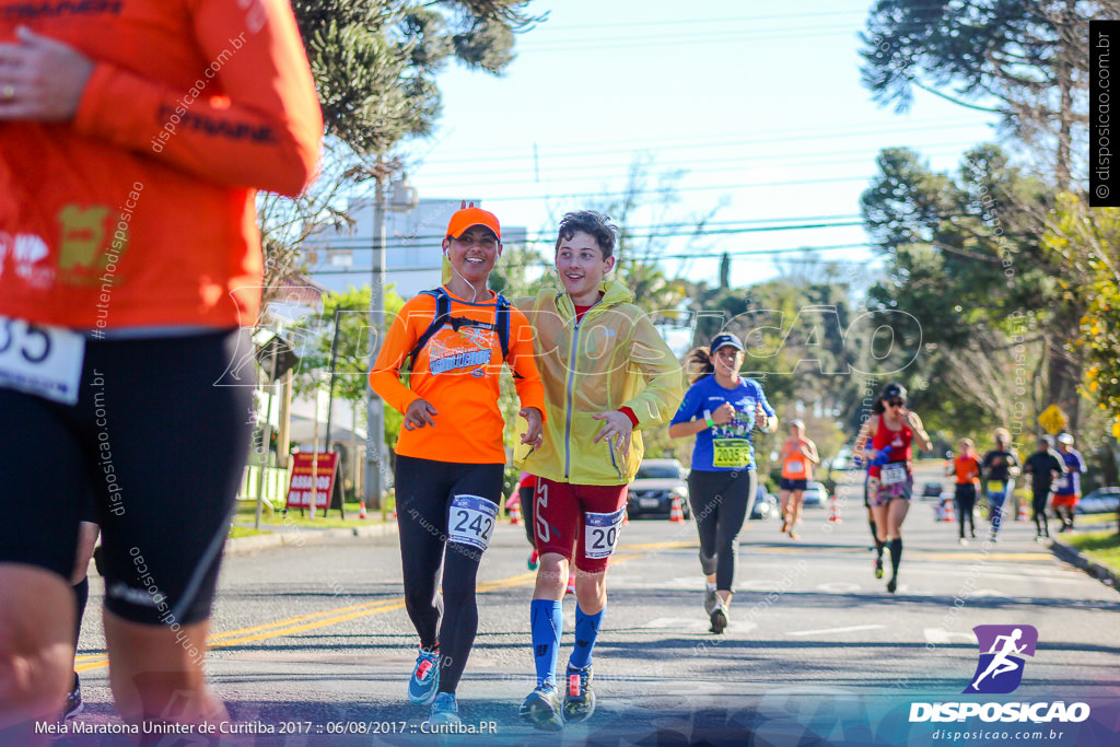
[[[638,216],[636,233],[715,211],[724,233],[697,248],[732,253],[732,284],[772,277],[775,256],[792,255],[769,252],[801,246],[842,246],[820,255],[866,278],[878,262],[858,246],[858,200],[879,150],[912,147],[951,170],[993,138],[990,115],[923,92],[907,114],[871,101],[857,38],[868,8],[536,0],[530,9],[549,18],[520,36],[504,76],[441,75],[440,125],[408,147],[418,162],[409,178],[422,197],[482,195],[504,224],[548,239],[560,214],[619,193],[645,159],[654,180],[683,176],[678,203]],[[806,223],[841,225],[768,230]],[[683,241],[665,253],[683,253]],[[718,276],[718,259],[663,263],[671,274]]]

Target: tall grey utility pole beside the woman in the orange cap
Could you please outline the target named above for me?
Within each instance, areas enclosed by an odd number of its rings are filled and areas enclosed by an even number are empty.
[[[379,159],[379,166],[381,161]],[[390,197],[392,199],[390,199]],[[373,202],[373,287],[370,292],[370,370],[377,361],[381,329],[385,319],[385,212],[407,213],[417,206],[417,190],[409,184],[408,176],[390,185],[385,190],[385,175],[377,169]],[[382,469],[385,448],[385,403],[366,383],[366,443],[365,443],[365,503],[371,508],[381,507],[384,491]]]

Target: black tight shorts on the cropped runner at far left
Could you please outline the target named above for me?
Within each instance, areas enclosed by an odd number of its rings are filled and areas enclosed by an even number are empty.
[[[240,330],[87,340],[77,404],[0,389],[0,562],[68,579],[93,502],[105,606],[141,624],[209,616],[249,452]]]

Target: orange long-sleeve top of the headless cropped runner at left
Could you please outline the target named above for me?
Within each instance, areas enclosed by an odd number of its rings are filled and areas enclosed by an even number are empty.
[[[74,119],[0,122],[0,315],[252,325],[255,189],[298,194],[323,118],[283,0],[0,0],[95,63]]]

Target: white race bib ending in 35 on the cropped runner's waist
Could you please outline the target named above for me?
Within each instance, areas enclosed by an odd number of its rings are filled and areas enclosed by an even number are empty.
[[[0,386],[75,404],[84,356],[77,333],[0,317]]]

